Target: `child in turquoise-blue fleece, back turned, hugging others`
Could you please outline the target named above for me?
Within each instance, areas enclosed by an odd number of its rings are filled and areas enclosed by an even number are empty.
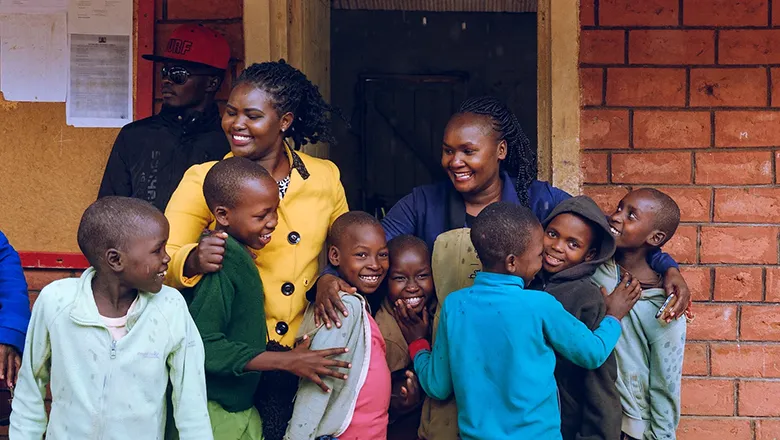
[[[639,298],[605,298],[607,316],[591,331],[550,294],[526,290],[542,266],[542,234],[527,208],[499,202],[482,210],[471,240],[483,271],[447,296],[433,351],[427,317],[396,308],[420,385],[436,399],[455,393],[464,440],[560,439],[555,352],[599,367]]]

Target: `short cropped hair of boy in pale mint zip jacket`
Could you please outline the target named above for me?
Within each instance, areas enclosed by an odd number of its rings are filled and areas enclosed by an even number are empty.
[[[145,200],[102,197],[81,216],[77,233],[79,249],[90,265],[97,266],[108,249],[126,250],[139,229],[151,219],[165,221],[162,212]]]

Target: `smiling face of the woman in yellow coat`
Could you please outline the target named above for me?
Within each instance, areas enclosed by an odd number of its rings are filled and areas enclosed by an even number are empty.
[[[273,104],[271,94],[250,83],[233,88],[222,115],[222,130],[234,155],[261,160],[283,147],[293,115],[279,115]]]

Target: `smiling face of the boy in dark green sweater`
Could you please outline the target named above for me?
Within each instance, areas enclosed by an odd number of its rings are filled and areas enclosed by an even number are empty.
[[[270,176],[249,179],[232,208],[217,206],[214,217],[225,232],[242,244],[260,250],[271,241],[279,217],[279,188]]]

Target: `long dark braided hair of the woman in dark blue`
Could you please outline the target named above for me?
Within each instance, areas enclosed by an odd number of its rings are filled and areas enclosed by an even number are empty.
[[[515,190],[520,204],[528,206],[528,187],[536,179],[536,149],[520,127],[515,114],[500,100],[492,96],[469,98],[460,105],[458,113],[488,116],[493,130],[501,141],[506,141],[506,158],[501,169],[515,179]]]

